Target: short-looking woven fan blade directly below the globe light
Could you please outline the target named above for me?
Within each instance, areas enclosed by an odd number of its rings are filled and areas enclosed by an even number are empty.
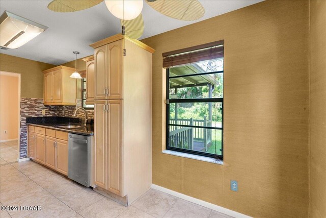
[[[131,39],[139,39],[144,33],[144,20],[142,13],[132,19],[123,20],[121,19],[121,26],[125,26],[125,33]]]

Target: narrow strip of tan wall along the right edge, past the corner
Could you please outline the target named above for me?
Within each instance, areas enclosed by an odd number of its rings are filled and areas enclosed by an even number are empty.
[[[326,217],[326,1],[310,1],[310,217]]]

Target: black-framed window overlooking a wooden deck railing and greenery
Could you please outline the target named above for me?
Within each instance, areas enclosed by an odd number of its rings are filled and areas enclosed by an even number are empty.
[[[205,59],[166,70],[167,150],[223,160],[223,53]]]

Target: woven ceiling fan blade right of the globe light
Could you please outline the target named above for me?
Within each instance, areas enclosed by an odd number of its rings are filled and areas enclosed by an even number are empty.
[[[197,0],[146,0],[146,3],[159,13],[179,20],[197,20],[205,14]]]

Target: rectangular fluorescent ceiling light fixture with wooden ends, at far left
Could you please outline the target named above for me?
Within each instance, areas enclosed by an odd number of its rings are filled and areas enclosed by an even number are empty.
[[[1,15],[0,23],[0,45],[8,49],[17,49],[47,29],[8,11]]]

